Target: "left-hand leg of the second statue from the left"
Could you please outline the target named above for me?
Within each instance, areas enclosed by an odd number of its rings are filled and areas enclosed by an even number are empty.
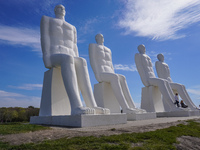
[[[100,78],[102,81],[109,82],[111,84],[113,93],[124,113],[134,113],[134,111],[136,111],[128,106],[128,103],[122,91],[122,87],[120,85],[120,79],[118,75],[114,73],[101,73]]]

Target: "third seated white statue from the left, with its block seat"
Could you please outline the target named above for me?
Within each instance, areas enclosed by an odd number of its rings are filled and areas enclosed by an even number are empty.
[[[144,88],[142,89],[141,108],[149,112],[180,111],[174,105],[174,94],[167,80],[157,78],[154,74],[151,59],[146,55],[144,45],[138,46],[135,63]],[[162,98],[161,98],[162,95]]]

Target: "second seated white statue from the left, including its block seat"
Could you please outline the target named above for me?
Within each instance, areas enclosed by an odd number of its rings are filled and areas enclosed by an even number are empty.
[[[98,106],[109,108],[112,113],[143,113],[138,109],[130,95],[126,78],[114,72],[111,50],[104,46],[102,34],[95,36],[96,43],[89,44],[90,64],[98,84],[94,86],[94,95]]]

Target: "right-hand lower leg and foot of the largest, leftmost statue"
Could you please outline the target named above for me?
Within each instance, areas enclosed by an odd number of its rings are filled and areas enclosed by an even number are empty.
[[[78,85],[80,87],[86,106],[94,108],[97,114],[109,114],[110,113],[109,109],[97,107],[90,83],[90,77],[88,74],[86,60],[80,57],[74,57],[74,60],[75,60]]]

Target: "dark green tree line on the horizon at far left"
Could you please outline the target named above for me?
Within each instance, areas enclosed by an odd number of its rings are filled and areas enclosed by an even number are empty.
[[[39,115],[39,108],[29,106],[28,108],[22,107],[1,107],[0,108],[0,122],[22,122],[30,121],[31,116]]]

